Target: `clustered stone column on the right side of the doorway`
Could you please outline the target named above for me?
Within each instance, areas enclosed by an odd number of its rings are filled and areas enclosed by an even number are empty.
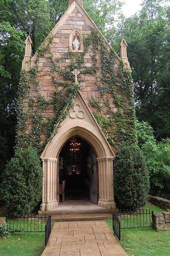
[[[107,209],[116,209],[113,192],[113,160],[114,157],[99,157],[99,201],[98,205]]]

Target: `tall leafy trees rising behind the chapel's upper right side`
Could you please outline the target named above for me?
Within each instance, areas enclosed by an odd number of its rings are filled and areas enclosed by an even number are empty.
[[[136,116],[149,122],[158,140],[169,137],[169,10],[164,0],[144,0],[142,10],[122,20],[112,45],[117,50],[119,31],[128,44],[136,100]]]

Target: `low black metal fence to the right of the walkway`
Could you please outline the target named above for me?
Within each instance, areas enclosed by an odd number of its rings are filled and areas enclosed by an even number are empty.
[[[120,211],[113,213],[113,231],[114,235],[121,240],[121,229],[124,228],[148,228],[152,224],[153,211]]]

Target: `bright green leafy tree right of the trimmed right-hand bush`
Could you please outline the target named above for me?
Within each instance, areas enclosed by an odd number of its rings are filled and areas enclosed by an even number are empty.
[[[150,194],[170,196],[170,139],[160,142],[154,138],[152,127],[146,122],[136,121],[138,145],[144,155],[150,177]]]

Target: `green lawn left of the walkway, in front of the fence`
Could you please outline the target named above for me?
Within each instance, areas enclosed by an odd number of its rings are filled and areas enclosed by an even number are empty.
[[[0,238],[0,256],[40,256],[45,247],[45,232],[14,233]]]

